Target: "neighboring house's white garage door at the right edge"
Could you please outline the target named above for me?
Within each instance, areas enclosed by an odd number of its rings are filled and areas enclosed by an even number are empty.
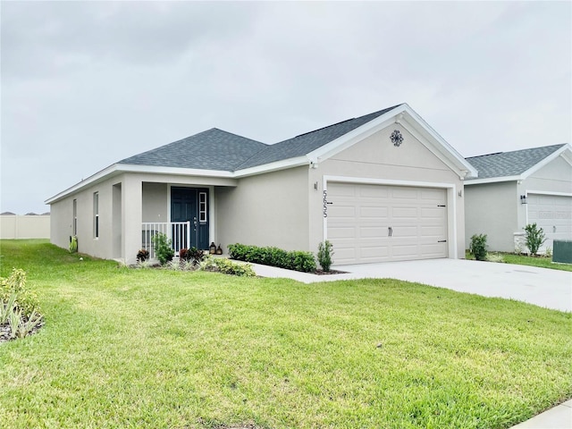
[[[528,223],[536,223],[546,234],[545,248],[552,240],[572,240],[572,197],[528,194]]]

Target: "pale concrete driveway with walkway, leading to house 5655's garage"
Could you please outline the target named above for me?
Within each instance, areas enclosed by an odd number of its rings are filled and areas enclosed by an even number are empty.
[[[344,274],[315,275],[253,265],[264,277],[287,277],[299,282],[332,282],[364,278],[393,278],[420,282],[484,297],[517,299],[540,307],[572,311],[572,273],[526,265],[428,259],[383,264],[336,265]]]

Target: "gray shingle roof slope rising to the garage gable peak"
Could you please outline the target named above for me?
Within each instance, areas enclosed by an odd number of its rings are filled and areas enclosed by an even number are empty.
[[[334,123],[333,125],[300,134],[293,139],[283,140],[274,145],[265,147],[264,150],[258,152],[256,155],[249,158],[244,163],[240,164],[239,169],[255,167],[257,165],[270,164],[275,161],[282,161],[283,159],[295,158],[297,156],[305,156],[322,147],[332,140],[338,139],[344,134],[349,133],[351,130],[357,129],[361,125],[373,121],[378,116],[386,114],[398,105],[388,107],[387,109],[374,112],[373,114],[366,114],[358,118],[349,119],[347,121]]]

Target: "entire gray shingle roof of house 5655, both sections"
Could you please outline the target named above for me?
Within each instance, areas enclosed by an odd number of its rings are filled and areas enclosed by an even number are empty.
[[[386,114],[398,105],[358,118],[334,123],[274,145],[218,130],[206,130],[162,147],[122,159],[118,164],[192,168],[233,172],[257,165],[304,156],[318,147]]]

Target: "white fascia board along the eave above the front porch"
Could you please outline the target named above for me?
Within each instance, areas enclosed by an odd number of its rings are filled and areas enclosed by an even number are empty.
[[[202,177],[223,177],[232,178],[232,172],[224,172],[219,170],[197,170],[192,168],[175,168],[175,167],[159,167],[159,166],[148,166],[148,165],[135,165],[135,164],[113,164],[109,167],[96,172],[88,179],[80,181],[71,188],[65,189],[59,194],[56,194],[52,198],[47,198],[45,203],[52,204],[71,195],[81,189],[87,188],[88,186],[95,185],[101,181],[111,179],[112,177],[121,174],[123,172],[142,172],[150,174],[171,174],[171,175],[185,175],[185,176],[202,176]]]

